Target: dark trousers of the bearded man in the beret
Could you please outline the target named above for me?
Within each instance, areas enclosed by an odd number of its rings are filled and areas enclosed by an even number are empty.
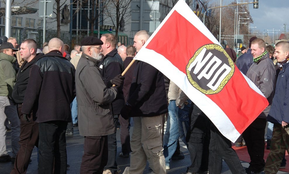
[[[107,136],[85,136],[80,174],[102,174],[107,155]]]

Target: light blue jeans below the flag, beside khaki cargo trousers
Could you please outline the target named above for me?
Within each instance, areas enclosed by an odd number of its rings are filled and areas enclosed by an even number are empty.
[[[189,102],[191,103],[191,101]],[[168,120],[166,124],[166,132],[164,134],[164,156],[166,165],[169,166],[171,158],[177,148],[177,140],[181,134],[182,141],[186,143],[183,122],[186,130],[189,127],[188,112],[190,105],[185,105],[183,109],[176,106],[176,100],[171,100],[168,104]],[[180,114],[178,113],[180,112]],[[179,119],[180,118],[180,119]],[[180,134],[179,134],[180,133]]]

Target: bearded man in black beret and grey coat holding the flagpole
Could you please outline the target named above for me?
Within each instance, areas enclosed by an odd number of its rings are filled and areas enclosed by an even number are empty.
[[[116,98],[123,76],[104,82],[97,67],[103,42],[95,37],[82,39],[75,86],[78,100],[79,134],[84,137],[84,154],[80,174],[103,173],[108,159],[108,135],[116,132],[111,102]],[[110,83],[110,87],[107,84]],[[112,87],[112,85],[116,87]]]

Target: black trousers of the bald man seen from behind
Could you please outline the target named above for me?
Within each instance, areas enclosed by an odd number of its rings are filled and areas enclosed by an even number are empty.
[[[39,123],[39,174],[66,174],[66,121]]]

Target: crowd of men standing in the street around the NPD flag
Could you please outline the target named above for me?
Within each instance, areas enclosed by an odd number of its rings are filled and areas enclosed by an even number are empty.
[[[68,169],[66,135],[78,126],[84,136],[80,173],[121,173],[116,162],[116,127],[121,125],[120,157],[130,157],[124,174],[141,174],[149,162],[152,174],[165,174],[170,161],[184,158],[178,139],[187,145],[191,165],[183,174],[221,173],[224,160],[232,173],[277,173],[285,168],[289,145],[289,43],[275,48],[250,39],[237,55],[225,48],[238,69],[268,99],[269,106],[235,142],[247,146],[246,170],[206,114],[152,65],[133,60],[149,39],[147,31],[128,47],[113,34],[92,36],[80,45],[52,38],[37,49],[33,39],[16,38],[0,45],[0,162],[12,162],[11,174],[25,174],[34,146],[39,173],[64,174]],[[149,56],[149,55],[148,55]],[[274,62],[273,62],[274,61]],[[124,70],[130,67],[125,74]],[[274,98],[273,98],[274,97]],[[134,121],[130,137],[130,121]],[[166,131],[164,132],[164,123]],[[264,161],[265,127],[268,121]],[[6,150],[11,129],[12,157]],[[243,141],[244,140],[244,141]]]

